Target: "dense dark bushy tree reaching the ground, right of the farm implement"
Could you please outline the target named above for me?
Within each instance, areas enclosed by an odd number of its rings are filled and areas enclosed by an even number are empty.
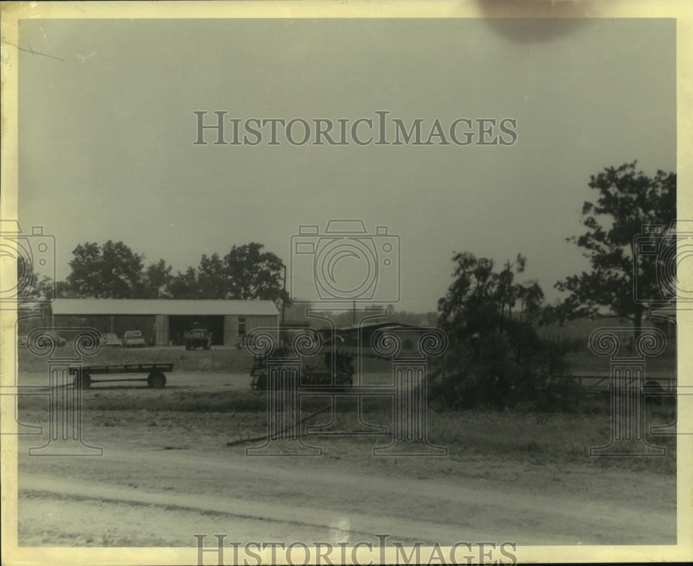
[[[561,357],[536,334],[541,287],[516,282],[526,258],[518,254],[500,271],[492,259],[470,252],[457,253],[453,261],[454,281],[438,302],[439,327],[449,346],[433,372],[430,398],[451,407],[502,407],[545,393]]]

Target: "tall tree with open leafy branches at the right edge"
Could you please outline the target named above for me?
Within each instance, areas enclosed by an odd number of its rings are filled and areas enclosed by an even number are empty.
[[[566,241],[583,250],[592,271],[567,277],[555,287],[570,293],[565,309],[572,316],[599,316],[600,309],[606,308],[610,314],[632,320],[637,329],[652,306],[647,299],[660,297],[660,291],[656,255],[636,257],[633,238],[642,234],[644,225],[667,225],[676,218],[676,173],[657,171],[650,178],[636,171],[635,164],[590,176],[589,186],[598,196],[596,203],[582,207],[587,230]],[[638,300],[633,296],[635,284]]]

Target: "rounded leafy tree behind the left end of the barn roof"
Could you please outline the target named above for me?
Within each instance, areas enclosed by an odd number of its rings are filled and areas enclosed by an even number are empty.
[[[69,294],[75,298],[134,298],[141,291],[142,255],[121,241],[78,245],[72,252]]]

